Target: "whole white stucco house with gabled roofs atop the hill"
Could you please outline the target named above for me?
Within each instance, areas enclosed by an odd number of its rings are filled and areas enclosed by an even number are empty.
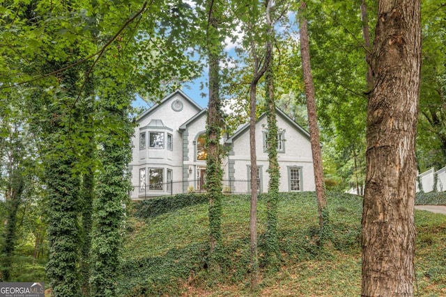
[[[139,115],[132,139],[132,198],[205,191],[207,109],[180,90]],[[277,109],[280,191],[314,191],[309,134]],[[256,123],[258,191],[268,189],[266,115]],[[222,138],[228,152],[222,162],[224,189],[249,193],[249,125]]]

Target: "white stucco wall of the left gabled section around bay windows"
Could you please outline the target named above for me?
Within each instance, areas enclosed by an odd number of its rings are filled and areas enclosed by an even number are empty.
[[[183,109],[180,111],[172,109],[172,103],[177,99],[183,104]],[[183,179],[183,136],[178,128],[197,113],[197,108],[179,93],[176,93],[159,106],[154,106],[153,109],[153,112],[148,111],[148,115],[141,115],[132,140],[133,152],[130,165],[132,166],[132,184],[134,186],[139,185],[140,168],[164,168],[164,182],[167,182],[167,169],[172,170],[173,180]],[[161,120],[163,125],[169,129],[144,128],[150,124],[151,120]],[[139,137],[144,131],[146,131],[146,149],[140,150]],[[157,149],[149,146],[149,131],[164,132],[164,148]],[[167,134],[173,136],[173,150],[171,151],[167,150]]]

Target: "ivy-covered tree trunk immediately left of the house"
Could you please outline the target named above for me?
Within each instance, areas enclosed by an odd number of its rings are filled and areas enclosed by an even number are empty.
[[[102,77],[103,75],[103,77]],[[105,71],[101,79],[112,75]],[[116,75],[116,74],[115,74]],[[93,230],[91,236],[91,296],[116,296],[119,274],[125,204],[130,179],[130,139],[134,127],[129,118],[132,95],[124,79],[113,78],[111,86],[102,86],[100,111],[102,120],[109,123],[100,135],[102,150],[99,158],[97,195],[93,200]]]

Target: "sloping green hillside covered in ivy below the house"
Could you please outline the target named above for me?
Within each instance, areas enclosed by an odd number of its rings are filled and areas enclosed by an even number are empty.
[[[200,200],[200,199],[199,199]],[[198,200],[194,200],[198,201]],[[314,193],[283,194],[279,203],[279,272],[262,271],[254,296],[358,296],[362,198],[330,193],[332,240],[316,246]],[[138,205],[136,206],[138,207]],[[139,205],[141,207],[141,205]],[[259,252],[263,252],[265,201],[259,200]],[[130,218],[125,235],[122,296],[249,295],[249,197],[225,196],[223,234],[226,259],[218,275],[206,270],[207,204],[148,218]],[[141,217],[141,214],[139,214]],[[415,211],[417,296],[446,296],[446,216]]]

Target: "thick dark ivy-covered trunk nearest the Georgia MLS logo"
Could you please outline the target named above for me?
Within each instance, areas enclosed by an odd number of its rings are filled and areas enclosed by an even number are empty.
[[[64,65],[69,65],[65,61]],[[61,65],[56,61],[48,61],[54,70]],[[52,117],[45,125],[43,138],[45,152],[43,166],[48,191],[48,243],[49,256],[46,273],[52,294],[55,297],[79,296],[79,174],[74,166],[79,161],[72,147],[62,145],[60,139],[69,139],[70,130],[65,106],[72,106],[79,92],[76,85],[79,79],[77,67],[62,72],[58,77],[65,93],[58,101],[47,101],[46,111]],[[46,95],[43,95],[46,96]],[[46,98],[45,98],[46,99]],[[73,122],[77,122],[77,110],[73,112]]]

